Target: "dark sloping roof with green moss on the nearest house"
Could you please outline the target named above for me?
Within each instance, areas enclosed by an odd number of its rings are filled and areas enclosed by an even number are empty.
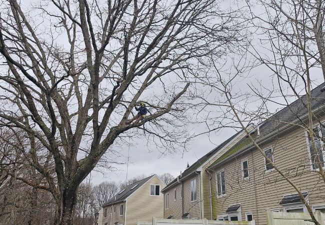
[[[325,106],[325,82],[318,85],[311,90],[311,110],[319,109],[320,107]],[[302,120],[304,116],[307,115],[308,109],[306,108],[307,95],[304,94],[293,101],[291,104],[282,108],[265,121],[258,125],[259,135],[257,135],[257,130],[252,134],[252,137],[257,141],[266,140],[269,138],[269,135],[277,135],[277,131],[281,128],[285,128],[285,125],[291,125],[290,123],[297,123],[295,120]],[[324,111],[323,111],[324,112]],[[276,132],[273,134],[273,132]],[[244,138],[240,139],[236,144],[224,152],[218,159],[216,159],[211,165],[207,167],[208,170],[212,170],[217,164],[221,161],[230,158],[238,152],[241,152],[245,149],[249,149],[252,146],[252,141],[246,135]]]

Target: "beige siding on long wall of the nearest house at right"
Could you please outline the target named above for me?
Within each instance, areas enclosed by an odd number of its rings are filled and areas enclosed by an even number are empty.
[[[304,130],[294,129],[278,138],[273,138],[261,148],[264,150],[269,146],[272,146],[274,163],[290,176],[299,189],[308,191],[310,205],[325,204],[322,198],[325,184],[320,181],[316,172],[310,171]],[[243,180],[241,176],[241,159],[245,157],[248,159],[249,180]],[[242,220],[245,219],[245,212],[252,211],[256,224],[266,224],[265,209],[279,208],[282,211],[279,201],[283,195],[296,193],[276,171],[264,171],[264,158],[257,149],[237,155],[236,158],[215,170],[222,168],[225,171],[226,196],[216,196],[215,172],[213,172],[211,180],[214,192],[213,218],[225,214],[229,205],[240,203]],[[297,173],[298,176],[295,175]]]

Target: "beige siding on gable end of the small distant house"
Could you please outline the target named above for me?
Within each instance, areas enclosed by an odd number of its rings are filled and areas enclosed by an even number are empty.
[[[153,176],[131,194],[126,202],[125,225],[136,225],[137,220],[149,222],[152,217],[163,218],[163,194],[151,196],[150,184],[160,185],[160,191],[165,187],[157,176]]]

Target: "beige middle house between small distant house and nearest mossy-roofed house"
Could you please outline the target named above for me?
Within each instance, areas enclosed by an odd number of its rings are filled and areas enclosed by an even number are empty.
[[[248,130],[252,128],[252,124],[247,127]],[[164,218],[212,218],[210,179],[205,168],[244,136],[243,130],[237,132],[198,159],[162,189]]]

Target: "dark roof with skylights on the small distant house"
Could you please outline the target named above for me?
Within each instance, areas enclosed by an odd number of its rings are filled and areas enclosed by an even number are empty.
[[[105,202],[103,206],[125,200],[128,196],[134,193],[138,188],[140,188],[144,183],[146,183],[153,176],[155,176],[155,174],[127,185],[123,190],[119,191],[107,202]]]

